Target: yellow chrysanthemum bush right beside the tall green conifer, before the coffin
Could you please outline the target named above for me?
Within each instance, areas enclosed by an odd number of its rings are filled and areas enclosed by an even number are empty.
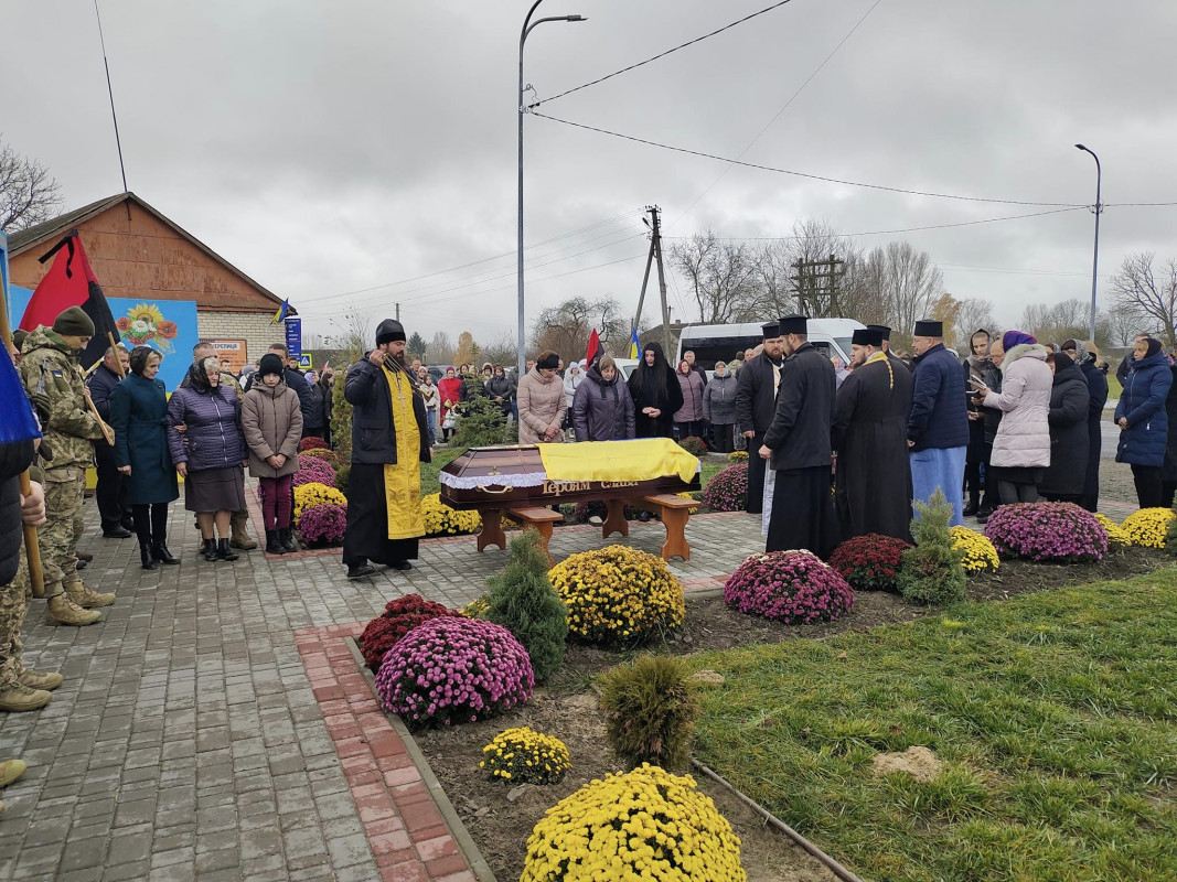
[[[568,632],[588,643],[641,643],[678,628],[686,614],[683,586],[666,561],[637,548],[580,552],[547,577],[568,608]]]

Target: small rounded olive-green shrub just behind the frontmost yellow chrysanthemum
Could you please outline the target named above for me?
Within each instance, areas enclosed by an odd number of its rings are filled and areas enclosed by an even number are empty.
[[[649,762],[685,768],[699,714],[698,687],[686,663],[671,655],[643,655],[600,680],[609,743],[627,768]]]

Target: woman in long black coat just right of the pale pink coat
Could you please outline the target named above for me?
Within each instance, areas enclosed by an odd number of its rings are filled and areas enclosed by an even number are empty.
[[[1048,360],[1048,363],[1051,363]],[[1088,467],[1088,406],[1091,393],[1079,366],[1066,353],[1053,358],[1050,387],[1050,466],[1038,493],[1051,502],[1078,502]]]

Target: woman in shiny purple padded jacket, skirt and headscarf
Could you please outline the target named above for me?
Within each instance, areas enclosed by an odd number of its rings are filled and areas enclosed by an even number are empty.
[[[230,519],[245,508],[248,465],[241,434],[241,402],[220,385],[220,363],[205,359],[188,368],[187,383],[167,405],[167,447],[184,479],[184,507],[197,513],[206,561],[235,561]],[[213,528],[220,536],[214,539]]]

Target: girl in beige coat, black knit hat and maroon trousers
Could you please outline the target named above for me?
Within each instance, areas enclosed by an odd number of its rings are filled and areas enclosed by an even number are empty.
[[[266,553],[285,554],[298,550],[291,535],[291,509],[302,412],[298,394],[282,379],[281,359],[262,355],[258,377],[260,382],[241,401],[241,430],[250,448],[250,474],[261,482]]]

